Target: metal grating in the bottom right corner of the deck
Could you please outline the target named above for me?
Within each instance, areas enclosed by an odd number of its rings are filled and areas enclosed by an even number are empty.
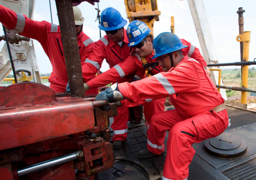
[[[256,158],[222,172],[230,180],[256,180]]]

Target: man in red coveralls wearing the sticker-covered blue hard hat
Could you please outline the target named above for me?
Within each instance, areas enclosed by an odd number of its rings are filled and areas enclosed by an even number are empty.
[[[150,32],[151,30],[145,23],[138,20],[131,22],[127,28],[127,36],[128,38],[130,37],[128,46],[132,47],[134,51],[128,58],[126,58],[125,61],[120,62],[119,64],[109,69],[107,72],[104,72],[96,78],[88,81],[85,84],[85,90],[89,88],[101,87],[111,82],[118,82],[120,79],[123,79],[122,77],[135,72],[137,72],[137,75],[142,75],[141,77],[137,76],[138,79],[144,78],[146,69],[150,71],[151,75],[163,72],[162,67],[157,64],[154,58],[152,58],[154,55],[152,47],[153,36],[149,34]],[[184,44],[188,45],[187,48],[182,49],[183,55],[188,54],[189,56],[195,58],[198,62],[200,62],[204,67],[207,67],[204,58],[200,54],[200,51],[191,43],[183,39],[181,41]],[[97,42],[95,44],[97,44]],[[95,45],[95,48],[96,47],[97,45]],[[146,63],[143,63],[144,57],[146,59]],[[151,70],[149,70],[148,67],[151,67]],[[142,103],[144,106],[144,116],[148,128],[152,115],[164,111],[164,103],[165,98],[158,99],[155,101],[152,101],[152,99],[149,98]],[[123,106],[126,105],[127,104],[123,104]],[[134,105],[129,104],[128,106]],[[127,131],[128,119],[116,119],[114,122],[117,123],[117,120],[119,124],[119,129],[126,129]],[[111,127],[115,133],[115,126],[112,125]],[[119,138],[120,136],[121,135],[119,135]],[[126,136],[123,135],[122,137],[122,140],[126,139]],[[116,136],[114,136],[113,139],[115,140]]]

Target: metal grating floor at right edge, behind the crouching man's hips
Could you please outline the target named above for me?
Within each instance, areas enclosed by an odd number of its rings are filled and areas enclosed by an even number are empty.
[[[246,110],[241,109],[235,109],[226,106],[229,119],[230,119],[230,127],[227,127],[227,129],[234,129],[240,126],[248,125],[251,123],[256,123],[256,113],[249,112]]]

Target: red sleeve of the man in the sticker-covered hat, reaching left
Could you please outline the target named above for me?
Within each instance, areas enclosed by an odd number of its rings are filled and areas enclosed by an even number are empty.
[[[125,61],[91,79],[87,84],[90,88],[96,88],[115,82],[128,74],[135,73],[138,69],[138,63],[139,59],[136,56],[129,56]]]

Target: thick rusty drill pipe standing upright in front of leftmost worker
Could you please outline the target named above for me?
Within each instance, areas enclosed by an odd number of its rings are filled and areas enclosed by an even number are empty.
[[[62,44],[69,79],[70,93],[77,97],[85,97],[72,1],[56,0],[55,2],[63,42]]]

